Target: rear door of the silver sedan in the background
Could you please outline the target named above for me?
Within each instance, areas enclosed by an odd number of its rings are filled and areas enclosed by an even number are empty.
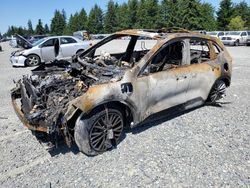
[[[72,37],[60,38],[60,50],[64,58],[69,58],[76,54],[77,41]]]

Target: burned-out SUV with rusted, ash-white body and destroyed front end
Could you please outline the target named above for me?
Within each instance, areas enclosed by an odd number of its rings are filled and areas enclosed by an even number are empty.
[[[232,59],[217,38],[186,30],[125,30],[70,62],[40,65],[16,82],[11,97],[34,133],[97,155],[119,143],[125,126],[152,114],[216,103],[231,72]]]

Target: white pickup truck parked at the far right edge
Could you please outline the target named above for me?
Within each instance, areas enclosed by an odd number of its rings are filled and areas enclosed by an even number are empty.
[[[221,41],[225,45],[250,45],[250,31],[229,31]]]

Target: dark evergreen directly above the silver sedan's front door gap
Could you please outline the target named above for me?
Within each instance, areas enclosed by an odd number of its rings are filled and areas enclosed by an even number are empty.
[[[65,26],[66,20],[64,15],[59,10],[56,10],[50,25],[51,33],[53,35],[62,35]]]

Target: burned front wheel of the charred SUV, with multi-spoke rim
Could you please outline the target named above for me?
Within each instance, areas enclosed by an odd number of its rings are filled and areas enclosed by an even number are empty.
[[[95,156],[118,144],[123,126],[123,115],[115,108],[94,112],[88,119],[81,114],[75,125],[75,142],[81,152]]]

